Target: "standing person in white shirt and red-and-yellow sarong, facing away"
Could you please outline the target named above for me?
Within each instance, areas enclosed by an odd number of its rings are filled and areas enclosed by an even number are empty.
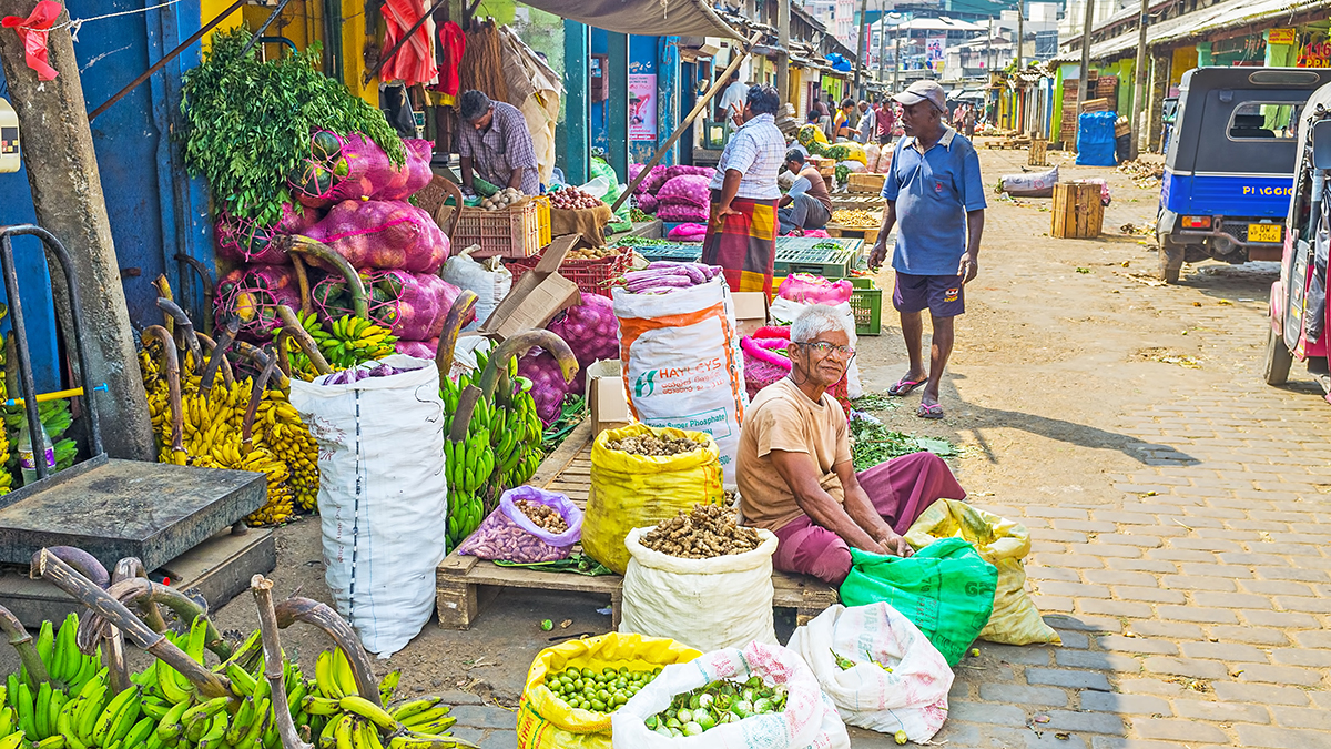
[[[703,263],[720,265],[732,292],[772,295],[776,261],[776,175],[785,136],[776,127],[781,97],[769,85],[749,88],[739,129],[721,151],[711,184],[711,217]]]

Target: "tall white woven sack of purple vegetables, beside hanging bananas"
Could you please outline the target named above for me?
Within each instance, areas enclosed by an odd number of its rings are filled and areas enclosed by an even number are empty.
[[[319,445],[325,578],[365,649],[389,657],[434,613],[447,493],[443,401],[433,361],[349,385],[291,380],[291,405]]]

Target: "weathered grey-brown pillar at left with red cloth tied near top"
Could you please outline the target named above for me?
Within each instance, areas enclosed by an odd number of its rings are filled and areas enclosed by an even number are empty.
[[[0,0],[0,16],[27,17],[33,5],[33,0]],[[68,12],[63,12],[57,25],[68,20]],[[73,259],[87,325],[80,333],[88,344],[91,378],[106,382],[108,388],[105,393],[89,396],[97,398],[106,453],[156,460],[148,396],[138,372],[134,332],[120,285],[120,267],[88,128],[88,104],[68,27],[51,32],[48,49],[51,65],[60,75],[43,83],[24,63],[19,35],[0,33],[0,65],[24,133],[32,203],[37,223],[53,233]],[[55,260],[49,263],[55,267]],[[51,283],[61,327],[71,331],[69,293],[59,271],[51,273]],[[77,365],[77,359],[73,363]]]

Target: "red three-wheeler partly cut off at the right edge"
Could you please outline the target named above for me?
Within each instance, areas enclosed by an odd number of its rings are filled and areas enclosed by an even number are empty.
[[[1280,279],[1271,284],[1266,382],[1283,385],[1294,359],[1331,392],[1327,373],[1327,251],[1331,245],[1331,85],[1303,108],[1294,183],[1284,217]]]

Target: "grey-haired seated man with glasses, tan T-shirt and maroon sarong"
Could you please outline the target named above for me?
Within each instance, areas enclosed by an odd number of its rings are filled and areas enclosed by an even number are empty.
[[[855,472],[845,412],[827,392],[855,356],[836,311],[800,313],[787,352],[791,374],[759,392],[745,413],[735,473],[740,509],[745,524],[776,534],[776,569],[840,586],[851,546],[910,556],[901,536],[910,524],[938,498],[966,493],[933,453]]]

